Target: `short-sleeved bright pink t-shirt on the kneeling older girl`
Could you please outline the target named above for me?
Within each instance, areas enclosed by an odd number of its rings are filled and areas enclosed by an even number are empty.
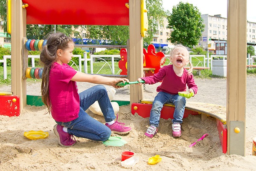
[[[52,117],[58,122],[69,122],[78,117],[80,99],[76,82],[71,81],[76,73],[67,64],[52,64],[49,73],[49,98]]]

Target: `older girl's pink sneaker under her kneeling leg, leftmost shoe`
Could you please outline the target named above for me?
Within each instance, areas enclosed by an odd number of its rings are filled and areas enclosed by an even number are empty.
[[[70,147],[76,143],[76,139],[73,135],[63,131],[63,126],[56,124],[54,125],[53,131],[58,137],[59,145],[62,147]]]

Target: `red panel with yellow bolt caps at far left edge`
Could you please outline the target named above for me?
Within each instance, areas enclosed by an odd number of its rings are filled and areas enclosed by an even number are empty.
[[[20,97],[0,96],[0,115],[17,117],[20,115]]]

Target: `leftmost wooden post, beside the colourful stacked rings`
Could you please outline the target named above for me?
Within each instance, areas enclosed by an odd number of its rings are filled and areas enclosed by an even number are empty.
[[[26,9],[21,0],[11,2],[12,92],[20,97],[20,113],[26,105],[26,80],[22,78],[22,38],[26,37]]]

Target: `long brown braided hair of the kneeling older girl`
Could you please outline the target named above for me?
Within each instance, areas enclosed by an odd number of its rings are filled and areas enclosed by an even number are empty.
[[[49,99],[49,72],[52,63],[57,59],[57,50],[65,50],[69,47],[69,43],[73,43],[73,40],[61,32],[49,34],[47,44],[43,47],[40,54],[40,61],[44,65],[41,84],[42,101],[47,106],[49,113],[51,108],[51,101]]]

